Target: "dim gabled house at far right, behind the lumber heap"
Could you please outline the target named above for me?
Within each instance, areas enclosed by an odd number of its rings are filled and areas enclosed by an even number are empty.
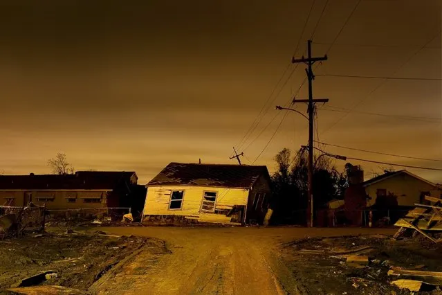
[[[427,181],[407,170],[386,172],[383,175],[365,181],[362,186],[371,199],[367,206],[373,206],[379,196],[395,195],[398,206],[414,206],[424,203],[424,196],[442,197],[442,190],[437,184]]]

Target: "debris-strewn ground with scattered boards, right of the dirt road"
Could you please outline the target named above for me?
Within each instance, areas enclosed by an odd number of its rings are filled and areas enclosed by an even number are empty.
[[[442,294],[440,244],[422,247],[420,241],[387,235],[307,238],[286,244],[284,251],[288,267],[312,294]]]

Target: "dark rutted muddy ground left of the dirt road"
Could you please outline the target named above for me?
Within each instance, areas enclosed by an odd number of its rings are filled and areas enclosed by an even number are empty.
[[[121,260],[141,247],[160,249],[156,239],[98,233],[44,233],[0,242],[0,293],[19,280],[55,271],[56,278],[40,285],[61,285],[87,290]]]

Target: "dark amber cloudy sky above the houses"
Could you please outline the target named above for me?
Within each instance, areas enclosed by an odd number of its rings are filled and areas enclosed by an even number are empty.
[[[291,64],[308,39],[313,56],[328,56],[314,66],[313,96],[330,99],[318,105],[316,140],[442,160],[441,1],[31,2],[0,3],[3,174],[50,173],[47,160],[63,152],[76,170],[134,170],[145,184],[172,161],[236,163],[233,146],[243,163],[275,171],[279,150],[308,141],[305,118],[275,109],[298,89],[308,97],[304,64]],[[386,166],[351,163],[366,179]],[[442,183],[442,171],[408,170]]]

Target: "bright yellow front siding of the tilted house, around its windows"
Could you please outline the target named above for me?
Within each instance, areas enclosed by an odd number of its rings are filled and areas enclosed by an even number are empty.
[[[173,190],[184,190],[181,209],[169,209],[170,194]],[[149,186],[144,215],[185,215],[201,221],[230,222],[230,217],[215,213],[200,213],[205,191],[217,192],[217,210],[230,209],[234,205],[246,205],[248,189],[219,188],[207,186]]]

